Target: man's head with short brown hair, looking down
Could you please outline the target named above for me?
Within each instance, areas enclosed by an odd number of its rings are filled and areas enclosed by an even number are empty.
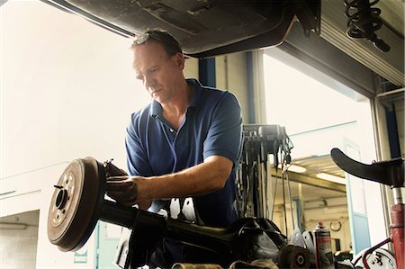
[[[151,30],[137,36],[130,47],[137,78],[158,103],[178,100],[184,79],[184,55],[180,44],[166,31]]]

